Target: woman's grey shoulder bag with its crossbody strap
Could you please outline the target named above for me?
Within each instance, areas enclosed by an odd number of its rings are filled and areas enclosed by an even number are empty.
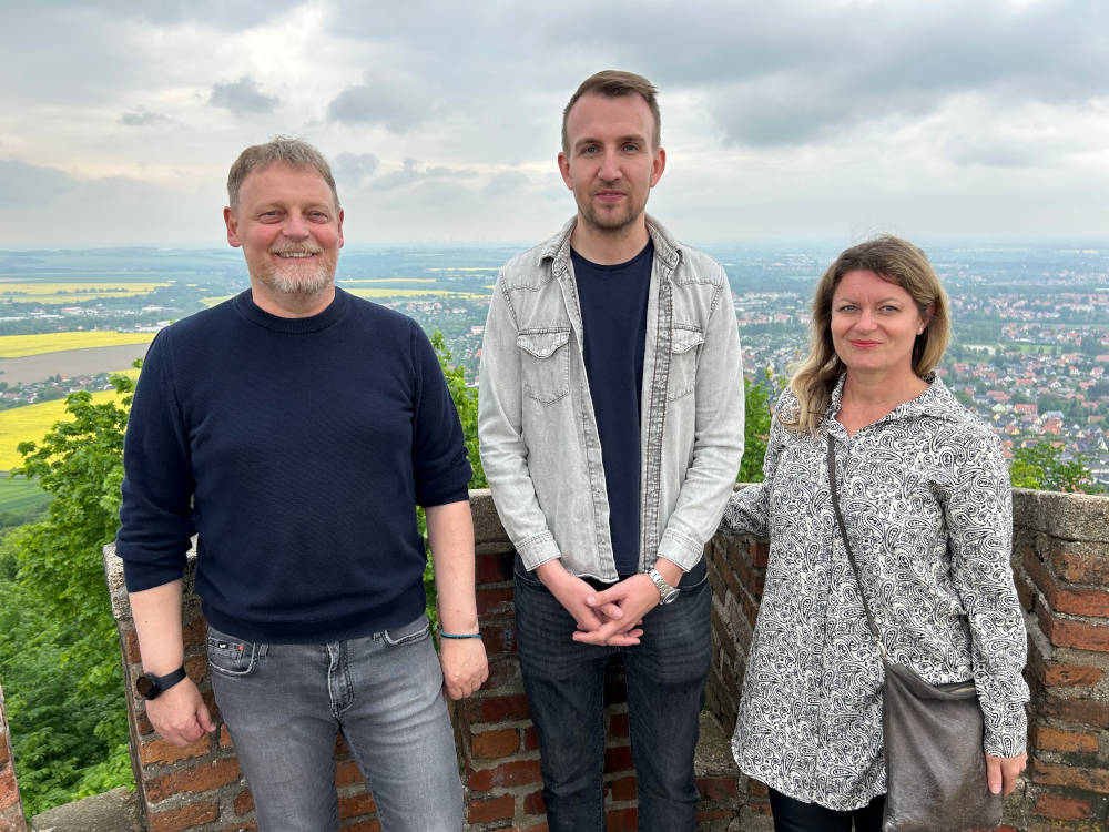
[[[974,682],[930,684],[889,661],[874,623],[858,565],[847,540],[835,477],[835,440],[828,436],[828,486],[847,560],[855,572],[866,623],[882,656],[883,749],[886,759],[884,832],[952,832],[994,829],[1001,795],[986,783],[983,717]]]

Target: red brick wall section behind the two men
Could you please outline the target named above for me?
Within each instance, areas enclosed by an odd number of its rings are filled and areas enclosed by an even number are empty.
[[[471,699],[451,708],[458,740],[459,768],[467,790],[470,832],[492,830],[546,830],[543,822],[539,751],[516,659],[512,627],[511,545],[497,518],[488,491],[470,496],[477,542],[477,598],[482,639],[489,655],[489,681]],[[153,732],[144,702],[133,691],[142,672],[134,621],[123,586],[122,565],[114,548],[104,549],[104,568],[112,596],[112,611],[120,632],[128,714],[131,724],[132,763],[140,802],[152,832],[204,830],[226,832],[253,830],[253,803],[238,768],[226,730],[185,749],[179,749]],[[183,628],[185,669],[200,686],[213,713],[211,682],[204,658],[205,623],[192,586],[192,568],[185,577]],[[606,719],[609,742],[604,755],[606,800],[610,832],[634,830],[635,777],[628,739],[628,709],[619,663],[610,667],[606,684]],[[711,745],[724,748],[719,729],[705,724]],[[378,830],[373,800],[354,760],[342,741],[336,782],[344,830]],[[700,829],[718,832],[734,828],[736,813],[735,768],[730,755],[704,755],[699,763],[698,784],[703,794]],[[2,830],[0,830],[2,832]]]

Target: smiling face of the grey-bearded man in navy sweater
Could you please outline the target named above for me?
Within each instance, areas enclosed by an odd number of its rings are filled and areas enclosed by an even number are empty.
[[[319,295],[329,302],[343,247],[343,212],[312,168],[277,162],[252,171],[238,205],[224,209],[227,242],[242,246],[255,303],[282,295]]]

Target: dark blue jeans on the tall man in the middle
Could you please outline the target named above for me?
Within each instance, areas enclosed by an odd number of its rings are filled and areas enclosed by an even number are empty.
[[[603,832],[604,668],[621,653],[642,832],[692,832],[693,749],[712,657],[712,593],[702,561],[681,596],[643,619],[634,647],[572,640],[573,618],[516,559],[516,628],[523,688],[539,739],[550,832]]]

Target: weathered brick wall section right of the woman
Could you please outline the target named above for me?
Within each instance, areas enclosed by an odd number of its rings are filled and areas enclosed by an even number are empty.
[[[1014,491],[1032,691],[1015,825],[1109,829],[1109,498]],[[1019,811],[1016,811],[1019,810]]]

